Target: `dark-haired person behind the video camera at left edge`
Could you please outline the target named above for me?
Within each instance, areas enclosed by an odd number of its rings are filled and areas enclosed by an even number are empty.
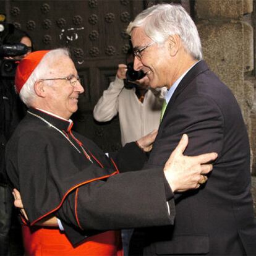
[[[1,46],[13,46],[23,43],[26,53],[15,56],[0,56],[0,255],[9,255],[9,232],[12,225],[13,198],[4,169],[4,147],[25,114],[25,105],[15,93],[14,75],[17,61],[32,51],[32,40],[27,33],[12,28],[7,35],[0,36]],[[12,51],[12,49],[10,49]]]

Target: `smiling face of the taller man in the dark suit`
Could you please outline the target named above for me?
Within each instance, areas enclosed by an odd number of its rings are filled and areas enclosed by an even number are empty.
[[[150,87],[171,87],[173,74],[170,73],[173,60],[169,54],[168,41],[163,45],[158,45],[145,35],[142,28],[134,28],[132,30],[132,46],[134,51],[148,46],[141,52],[141,58],[134,58],[134,69],[142,69],[147,74]]]

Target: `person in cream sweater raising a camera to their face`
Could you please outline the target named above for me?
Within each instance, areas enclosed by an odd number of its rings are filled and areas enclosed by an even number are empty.
[[[119,113],[122,146],[158,129],[166,92],[165,88],[151,89],[148,77],[142,77],[141,73],[133,70],[133,61],[132,49],[129,49],[127,65],[118,65],[116,79],[93,109],[93,116],[98,122],[110,121]]]

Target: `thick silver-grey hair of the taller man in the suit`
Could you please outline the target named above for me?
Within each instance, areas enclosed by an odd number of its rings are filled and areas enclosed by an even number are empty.
[[[145,34],[158,43],[163,43],[171,35],[179,35],[184,48],[193,58],[203,58],[197,27],[179,4],[156,4],[145,9],[129,23],[126,32],[131,35],[136,27],[142,27]]]

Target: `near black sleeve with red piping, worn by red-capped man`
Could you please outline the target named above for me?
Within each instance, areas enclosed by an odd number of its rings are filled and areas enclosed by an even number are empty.
[[[168,225],[174,218],[168,215],[160,168],[82,186],[69,195],[57,216],[87,231]]]

